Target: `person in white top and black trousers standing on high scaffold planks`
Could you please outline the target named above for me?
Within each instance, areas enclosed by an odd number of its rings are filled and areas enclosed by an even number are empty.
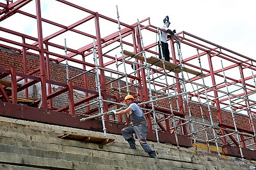
[[[168,48],[168,43],[166,41],[166,39],[171,38],[171,36],[176,36],[175,30],[170,30],[168,29],[168,27],[170,26],[170,22],[169,22],[169,17],[166,16],[163,20],[164,25],[163,27],[160,28],[160,41],[158,42],[158,47],[159,47],[159,59],[162,59],[162,53],[161,51],[163,51],[163,56],[164,56],[164,60],[170,62],[170,51]],[[160,44],[161,43],[161,44]],[[161,50],[161,46],[162,46],[162,50]]]

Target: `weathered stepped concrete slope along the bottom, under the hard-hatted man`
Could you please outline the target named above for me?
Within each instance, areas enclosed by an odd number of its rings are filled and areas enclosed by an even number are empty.
[[[57,138],[63,132],[103,137],[102,132],[0,117],[1,169],[253,169],[252,160],[215,153],[195,152],[193,148],[148,142],[159,155],[151,159],[138,141],[138,150],[128,149],[124,138],[108,145]]]

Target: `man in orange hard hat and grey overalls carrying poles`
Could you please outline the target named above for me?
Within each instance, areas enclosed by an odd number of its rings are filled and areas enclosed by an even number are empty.
[[[135,140],[130,135],[135,133],[145,152],[147,152],[150,157],[156,158],[156,151],[152,150],[146,141],[148,125],[147,120],[143,115],[143,111],[136,103],[134,103],[134,97],[131,95],[125,96],[124,103],[127,104],[128,108],[116,112],[115,115],[124,115],[125,125],[129,125],[132,122],[131,126],[125,127],[121,131],[125,140],[130,145],[129,148],[136,150]],[[129,114],[128,116],[127,113]]]

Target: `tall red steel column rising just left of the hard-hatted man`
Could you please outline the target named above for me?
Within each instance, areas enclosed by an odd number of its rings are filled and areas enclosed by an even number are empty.
[[[99,13],[95,13],[95,27],[96,27],[96,37],[97,37],[97,50],[99,55],[99,66],[104,67],[101,38],[100,38]],[[101,85],[100,89],[102,92],[102,99],[107,100],[106,77],[103,69],[100,69],[100,85]],[[104,112],[108,111],[108,103],[103,102],[103,106],[104,106]],[[109,121],[109,116],[105,115],[105,119],[106,121]]]

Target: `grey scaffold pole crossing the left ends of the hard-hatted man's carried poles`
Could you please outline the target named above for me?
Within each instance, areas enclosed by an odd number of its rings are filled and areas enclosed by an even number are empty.
[[[99,114],[104,113],[103,111],[103,101],[102,101],[102,95],[101,95],[101,90],[100,90],[100,77],[99,77],[99,65],[97,62],[97,52],[96,52],[96,45],[95,45],[95,39],[93,39],[93,61],[95,64],[95,83],[96,83],[96,88],[97,91],[99,92]],[[102,120],[102,125],[103,125],[103,132],[104,132],[104,137],[107,136],[107,132],[106,132],[106,125],[105,125],[105,117],[104,115],[101,116],[101,120]]]

